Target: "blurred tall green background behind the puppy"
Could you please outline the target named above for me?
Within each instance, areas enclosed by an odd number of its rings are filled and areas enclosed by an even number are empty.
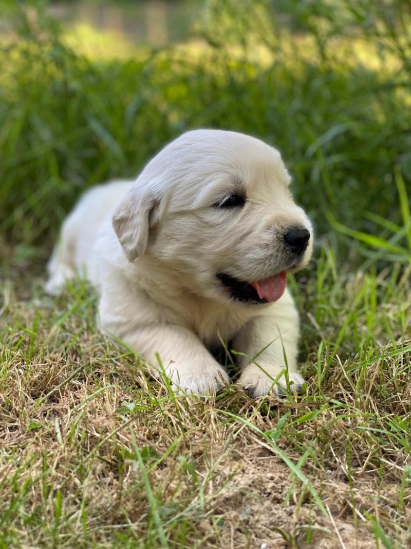
[[[49,248],[85,188],[212,127],[281,150],[318,247],[411,260],[408,0],[1,4],[3,251]]]

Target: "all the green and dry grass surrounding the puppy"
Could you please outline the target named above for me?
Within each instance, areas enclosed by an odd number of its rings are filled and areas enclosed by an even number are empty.
[[[3,37],[0,547],[410,546],[410,14],[281,9],[210,1],[195,41],[121,60],[41,10]],[[44,294],[81,191],[195,127],[281,149],[315,223],[289,280],[301,396],[170,394],[98,331],[87,283]]]

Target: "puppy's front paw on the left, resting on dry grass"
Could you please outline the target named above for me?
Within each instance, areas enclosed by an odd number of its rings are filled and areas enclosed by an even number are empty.
[[[174,369],[167,372],[172,382],[172,389],[178,394],[212,395],[231,381],[219,365],[193,368],[181,372]]]

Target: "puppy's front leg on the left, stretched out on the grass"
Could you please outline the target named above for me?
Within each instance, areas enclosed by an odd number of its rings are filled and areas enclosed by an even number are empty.
[[[125,331],[104,323],[102,327],[112,333],[123,332],[121,339],[146,358],[156,377],[164,369],[175,391],[212,394],[230,384],[224,368],[196,335],[182,326],[151,324]]]

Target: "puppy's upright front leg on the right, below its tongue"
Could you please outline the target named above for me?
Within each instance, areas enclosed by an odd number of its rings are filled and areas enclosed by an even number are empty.
[[[287,378],[292,392],[299,393],[304,383],[296,362],[298,313],[288,293],[281,301],[265,316],[248,322],[233,340],[233,348],[243,354],[239,355],[243,368],[239,383],[254,397],[270,390],[283,393]]]

